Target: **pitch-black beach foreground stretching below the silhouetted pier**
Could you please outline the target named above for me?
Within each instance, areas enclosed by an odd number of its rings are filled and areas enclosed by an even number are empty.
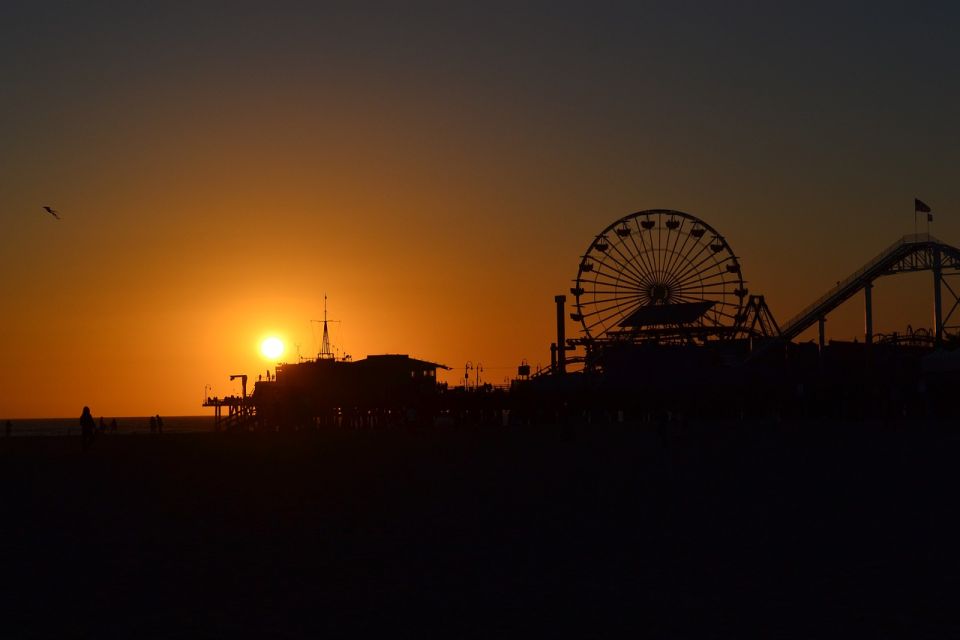
[[[951,425],[0,441],[0,637],[957,637]]]

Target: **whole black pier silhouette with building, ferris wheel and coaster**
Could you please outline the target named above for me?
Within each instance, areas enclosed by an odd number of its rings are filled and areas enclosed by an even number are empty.
[[[933,274],[932,331],[873,332],[872,283]],[[326,331],[315,360],[277,366],[252,397],[208,398],[230,408],[227,428],[398,424],[524,424],[699,418],[946,416],[960,413],[960,345],[951,318],[960,297],[960,250],[928,234],[905,236],[781,325],[763,295],[749,294],[740,260],[713,227],[688,213],[652,209],[607,226],[580,260],[569,317],[557,295],[549,369],[524,363],[508,387],[438,385],[447,368],[404,355],[359,362],[333,357]],[[943,290],[951,296],[946,308]],[[827,341],[827,314],[863,291],[864,340]],[[816,342],[792,339],[819,324]],[[571,353],[578,352],[578,353]],[[470,365],[468,364],[468,368]]]

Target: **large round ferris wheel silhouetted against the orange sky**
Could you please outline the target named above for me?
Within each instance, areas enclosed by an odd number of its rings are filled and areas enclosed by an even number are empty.
[[[730,336],[747,295],[723,236],[669,209],[631,213],[600,232],[570,292],[588,341]]]

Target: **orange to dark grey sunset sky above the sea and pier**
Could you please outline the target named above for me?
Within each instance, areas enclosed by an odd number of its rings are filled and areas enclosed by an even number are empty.
[[[266,336],[315,355],[325,295],[341,354],[502,383],[644,209],[716,228],[781,322],[915,197],[960,244],[957,5],[729,4],[4,2],[0,416],[202,414]],[[878,282],[875,331],[931,299]]]

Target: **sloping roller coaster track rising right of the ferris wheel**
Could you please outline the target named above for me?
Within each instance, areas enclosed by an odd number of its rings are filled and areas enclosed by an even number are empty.
[[[934,238],[930,234],[906,235],[887,247],[873,260],[854,271],[846,279],[820,296],[800,313],[787,321],[780,330],[783,340],[793,340],[821,318],[852,298],[882,276],[914,271],[933,271],[935,281],[953,294],[952,304],[946,314],[939,314],[939,287],[937,287],[938,329],[947,327],[947,321],[958,306],[958,297],[943,275],[960,273],[960,249]],[[939,332],[938,332],[939,339]]]

